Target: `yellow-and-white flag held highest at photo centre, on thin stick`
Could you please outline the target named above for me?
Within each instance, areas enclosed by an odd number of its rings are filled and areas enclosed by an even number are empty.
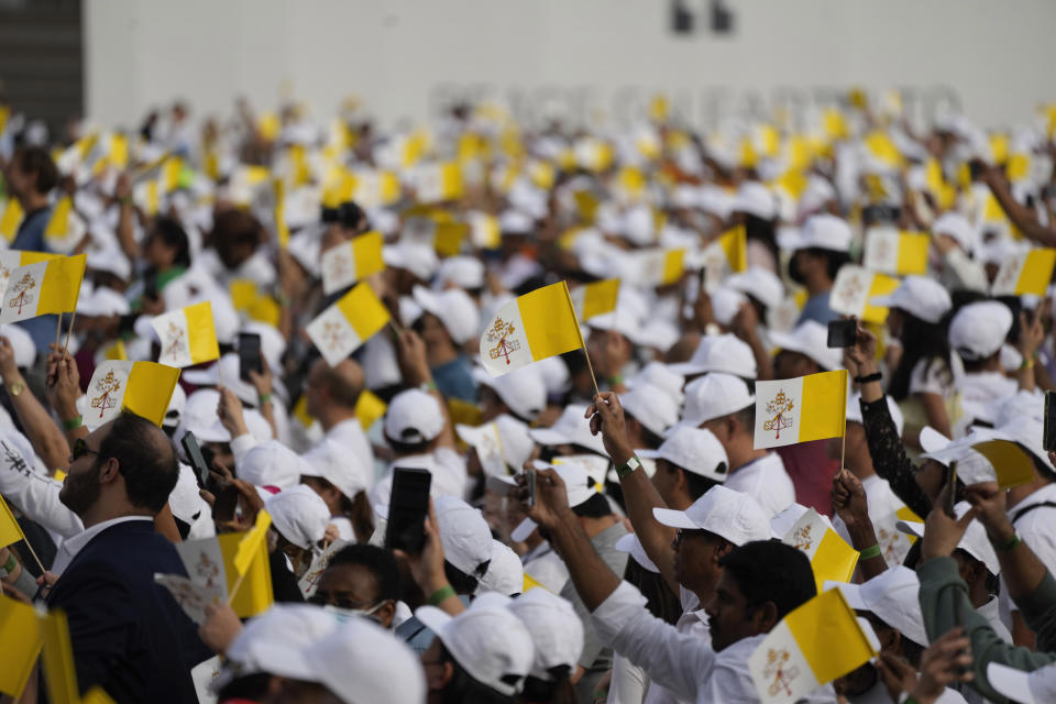
[[[564,282],[518,296],[498,309],[481,336],[481,363],[492,376],[583,346]]]

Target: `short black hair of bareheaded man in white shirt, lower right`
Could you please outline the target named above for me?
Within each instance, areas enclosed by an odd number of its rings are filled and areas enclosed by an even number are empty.
[[[778,618],[817,594],[807,557],[780,540],[756,540],[734,548],[718,560],[740,587],[748,606],[773,602]]]

